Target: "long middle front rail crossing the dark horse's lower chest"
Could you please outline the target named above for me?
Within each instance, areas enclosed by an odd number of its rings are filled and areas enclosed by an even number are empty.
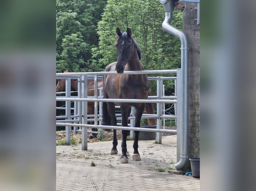
[[[116,103],[177,103],[177,100],[160,99],[90,99],[90,98],[70,98],[56,97],[56,101],[97,101],[97,102],[116,102]]]

